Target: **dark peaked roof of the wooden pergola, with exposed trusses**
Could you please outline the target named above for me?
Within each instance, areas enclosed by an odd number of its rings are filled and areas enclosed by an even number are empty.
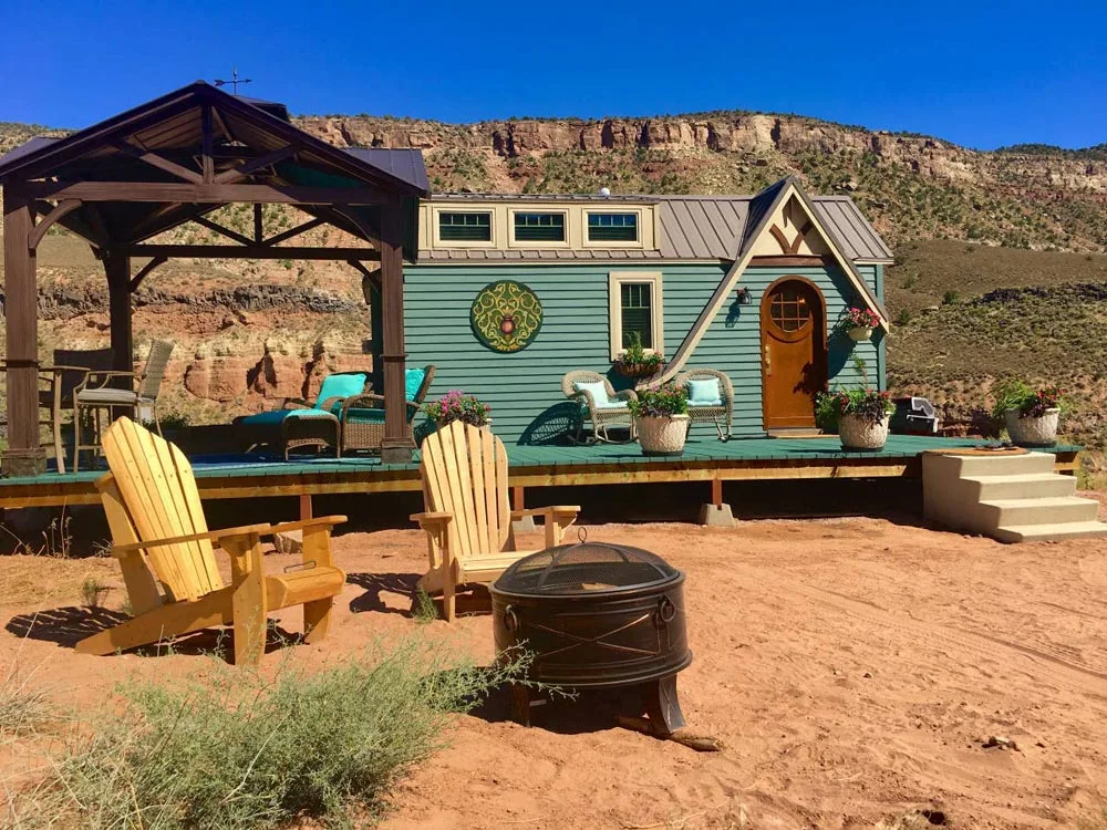
[[[0,184],[29,188],[40,214],[55,208],[45,199],[81,199],[58,222],[97,247],[134,246],[242,201],[219,198],[230,184],[263,186],[258,203],[294,204],[370,241],[383,204],[399,204],[414,228],[430,193],[418,151],[334,147],[275,113],[287,111],[196,82],[64,138],[32,138],[0,158]],[[96,183],[122,181],[151,188],[125,201],[96,197]],[[348,204],[335,203],[339,191]]]

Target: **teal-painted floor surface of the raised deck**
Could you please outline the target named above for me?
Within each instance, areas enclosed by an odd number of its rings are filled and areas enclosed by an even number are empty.
[[[721,442],[714,438],[690,440],[679,457],[651,457],[642,454],[638,444],[598,444],[587,447],[562,446],[508,446],[511,467],[565,467],[576,465],[623,465],[682,461],[696,466],[711,461],[741,463],[765,460],[836,460],[870,459],[873,461],[913,458],[927,449],[977,447],[985,442],[973,438],[937,438],[917,435],[892,435],[883,449],[876,452],[845,452],[836,436],[825,438],[734,438]],[[1072,453],[1078,445],[1058,444],[1053,452]],[[1048,452],[1048,450],[1047,450]],[[237,478],[256,476],[294,476],[300,474],[365,473],[366,470],[417,469],[418,457],[411,464],[381,464],[376,458],[312,458],[284,461],[258,459],[249,456],[194,456],[193,470],[197,478]],[[59,476],[45,473],[40,476],[0,478],[0,488],[10,485],[48,484],[64,478],[68,481],[92,481],[103,475],[103,469],[81,470]]]

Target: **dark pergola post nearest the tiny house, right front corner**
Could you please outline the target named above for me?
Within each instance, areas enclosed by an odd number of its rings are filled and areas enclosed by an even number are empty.
[[[384,363],[384,440],[381,460],[405,464],[415,445],[407,426],[404,372],[404,258],[402,207],[390,200],[381,207],[381,329]]]

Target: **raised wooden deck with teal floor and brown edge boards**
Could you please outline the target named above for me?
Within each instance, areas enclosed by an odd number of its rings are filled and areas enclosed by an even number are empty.
[[[842,452],[835,436],[690,440],[680,458],[650,458],[637,444],[592,447],[508,447],[513,487],[566,487],[673,481],[796,478],[918,477],[928,449],[980,446],[963,438],[892,435],[876,453]],[[1057,470],[1075,473],[1080,447],[1057,445]],[[204,499],[324,496],[417,491],[418,464],[375,458],[266,460],[249,456],[195,456]],[[0,509],[100,502],[95,480],[103,470],[0,478]]]

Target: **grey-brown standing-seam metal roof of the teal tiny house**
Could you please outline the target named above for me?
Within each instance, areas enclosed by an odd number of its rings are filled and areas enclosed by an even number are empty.
[[[660,219],[658,250],[588,248],[581,250],[493,250],[487,248],[421,250],[420,260],[566,260],[566,259],[666,259],[734,260],[751,245],[758,226],[792,177],[780,179],[756,196],[600,196],[518,194],[435,194],[434,201],[549,204],[594,203],[597,205],[656,205]],[[834,234],[842,252],[855,263],[889,264],[892,252],[880,235],[848,196],[815,196],[811,205],[818,219]]]

